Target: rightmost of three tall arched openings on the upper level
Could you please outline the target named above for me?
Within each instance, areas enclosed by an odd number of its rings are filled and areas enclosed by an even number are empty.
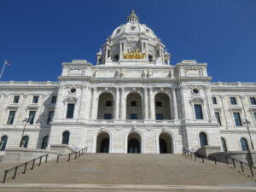
[[[155,119],[172,119],[170,98],[165,93],[158,93],[154,96]]]

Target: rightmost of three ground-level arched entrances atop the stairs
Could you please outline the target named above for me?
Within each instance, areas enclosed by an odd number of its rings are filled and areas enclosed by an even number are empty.
[[[172,154],[172,137],[166,132],[160,134],[159,151],[160,154]]]

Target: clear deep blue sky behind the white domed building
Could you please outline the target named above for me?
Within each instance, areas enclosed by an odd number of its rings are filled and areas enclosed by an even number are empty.
[[[255,0],[0,0],[3,80],[56,81],[61,62],[86,59],[135,9],[172,55],[208,63],[212,81],[256,82]],[[1,66],[2,67],[2,66]]]

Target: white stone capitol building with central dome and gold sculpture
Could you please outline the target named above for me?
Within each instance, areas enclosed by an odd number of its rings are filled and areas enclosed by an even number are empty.
[[[0,154],[60,145],[89,153],[248,150],[248,127],[256,145],[256,83],[212,83],[207,63],[170,61],[132,11],[95,65],[63,62],[58,82],[0,82]]]

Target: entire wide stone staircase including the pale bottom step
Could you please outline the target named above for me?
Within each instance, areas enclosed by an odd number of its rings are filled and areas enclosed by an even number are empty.
[[[202,164],[182,154],[84,154],[9,179],[0,185],[5,190],[256,191],[256,184],[223,164]]]

